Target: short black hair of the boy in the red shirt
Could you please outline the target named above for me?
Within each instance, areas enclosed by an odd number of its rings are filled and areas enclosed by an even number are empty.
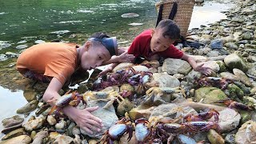
[[[156,29],[163,29],[162,36],[169,37],[170,39],[179,39],[180,38],[180,29],[176,23],[170,19],[164,19],[158,23]]]

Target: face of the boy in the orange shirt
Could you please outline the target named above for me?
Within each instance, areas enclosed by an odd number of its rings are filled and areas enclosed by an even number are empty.
[[[110,52],[103,45],[94,46],[90,44],[89,48],[85,49],[86,51],[82,54],[81,58],[81,66],[84,70],[91,70],[102,66],[102,62],[106,62],[111,58]]]

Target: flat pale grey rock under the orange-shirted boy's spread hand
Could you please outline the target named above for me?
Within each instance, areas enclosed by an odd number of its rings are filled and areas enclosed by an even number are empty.
[[[106,132],[106,130],[109,130],[111,126],[115,124],[115,122],[118,121],[118,116],[115,113],[114,106],[110,106],[107,110],[103,109],[102,107],[106,106],[106,101],[101,100],[90,100],[87,102],[86,107],[94,107],[98,106],[98,110],[95,110],[91,114],[93,114],[95,117],[98,117],[102,119],[102,124],[104,125],[100,132],[94,131],[94,134],[88,134],[85,130],[81,130],[82,134],[88,135],[91,138],[102,138],[102,134]]]

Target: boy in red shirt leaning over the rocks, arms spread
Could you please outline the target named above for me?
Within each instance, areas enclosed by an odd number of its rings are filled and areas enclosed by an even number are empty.
[[[128,54],[134,54],[135,58],[142,57],[147,60],[158,60],[162,58],[181,58],[190,63],[194,70],[209,75],[212,70],[208,67],[198,65],[194,58],[178,50],[173,43],[180,38],[179,27],[170,19],[162,20],[155,30],[145,30],[139,34],[130,45]],[[113,70],[118,63],[114,63],[103,70],[100,75]]]

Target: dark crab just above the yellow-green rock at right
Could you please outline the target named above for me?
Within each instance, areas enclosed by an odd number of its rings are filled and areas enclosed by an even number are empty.
[[[218,78],[218,77],[206,77],[202,76],[195,81],[196,86],[216,86],[221,90],[225,90],[229,83],[232,81],[228,78]]]

